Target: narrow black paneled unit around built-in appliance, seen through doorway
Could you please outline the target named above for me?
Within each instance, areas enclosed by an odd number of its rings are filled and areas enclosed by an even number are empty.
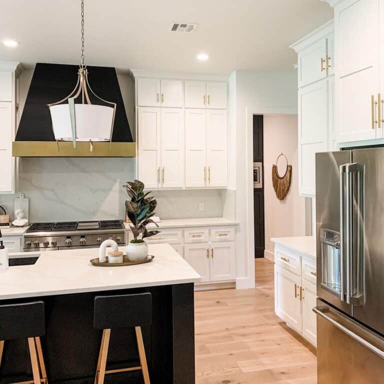
[[[261,162],[261,187],[253,188],[254,257],[264,257],[263,116],[253,115],[253,162]]]

